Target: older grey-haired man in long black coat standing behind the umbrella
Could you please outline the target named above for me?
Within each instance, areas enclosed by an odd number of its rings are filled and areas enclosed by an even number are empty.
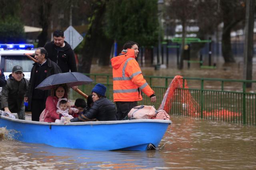
[[[35,51],[35,59],[29,80],[29,88],[26,93],[25,101],[28,101],[28,109],[31,109],[32,121],[39,121],[40,114],[45,109],[46,98],[50,95],[50,90],[35,89],[46,77],[61,73],[60,67],[47,58],[47,51],[39,47]]]

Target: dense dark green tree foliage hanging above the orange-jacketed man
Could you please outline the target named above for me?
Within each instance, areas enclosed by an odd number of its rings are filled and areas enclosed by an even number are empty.
[[[128,40],[151,46],[158,42],[157,0],[111,0],[106,12],[106,34],[118,43]]]

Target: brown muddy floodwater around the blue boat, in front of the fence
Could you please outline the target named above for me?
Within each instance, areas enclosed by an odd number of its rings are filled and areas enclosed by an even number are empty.
[[[172,117],[160,150],[89,151],[0,141],[0,169],[256,169],[256,127]]]

